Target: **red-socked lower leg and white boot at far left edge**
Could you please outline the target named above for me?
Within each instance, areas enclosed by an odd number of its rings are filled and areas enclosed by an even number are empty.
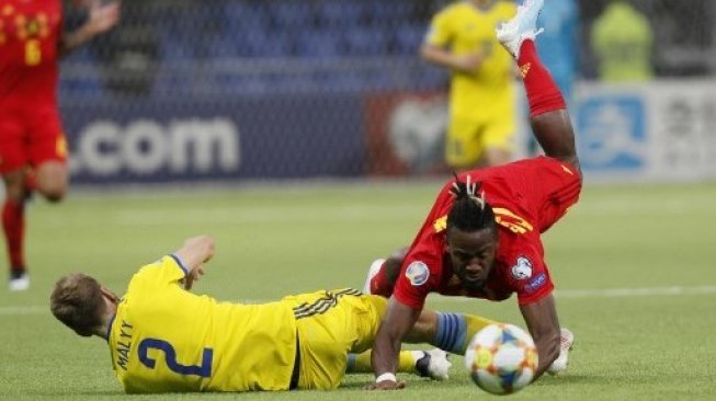
[[[22,291],[30,287],[25,270],[25,169],[18,169],[2,175],[5,185],[5,200],[2,206],[2,231],[5,237],[10,263],[10,290]]]

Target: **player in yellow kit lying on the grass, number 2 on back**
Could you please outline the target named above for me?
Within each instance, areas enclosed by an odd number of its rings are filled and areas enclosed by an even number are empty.
[[[323,390],[338,387],[355,363],[354,371],[372,371],[366,351],[385,314],[384,298],[342,289],[261,305],[219,302],[189,291],[213,254],[209,237],[190,238],[141,267],[122,298],[90,276],[62,277],[50,309],[78,334],[107,341],[116,376],[130,393]],[[455,353],[491,323],[451,316],[467,324],[452,331],[446,351]],[[437,335],[439,320],[423,311],[408,341],[447,344]],[[444,352],[404,352],[400,359],[399,371],[447,377]]]

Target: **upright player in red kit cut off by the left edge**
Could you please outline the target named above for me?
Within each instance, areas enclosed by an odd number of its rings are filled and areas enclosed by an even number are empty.
[[[0,3],[0,174],[5,186],[2,229],[11,290],[30,285],[25,267],[24,199],[37,191],[60,200],[69,181],[67,144],[57,107],[58,58],[112,28],[120,3],[73,0],[89,10],[77,31],[62,32],[60,0]]]

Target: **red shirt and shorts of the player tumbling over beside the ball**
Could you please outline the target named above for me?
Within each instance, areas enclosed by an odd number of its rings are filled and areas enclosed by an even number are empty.
[[[520,305],[549,295],[554,284],[539,234],[577,203],[581,191],[579,173],[570,164],[539,157],[465,172],[459,175],[461,181],[467,175],[481,183],[498,224],[495,266],[484,289],[466,290],[453,274],[445,241],[447,214],[454,199],[451,182],[437,195],[410,245],[393,295],[413,309],[423,307],[429,293],[496,301],[516,293]]]

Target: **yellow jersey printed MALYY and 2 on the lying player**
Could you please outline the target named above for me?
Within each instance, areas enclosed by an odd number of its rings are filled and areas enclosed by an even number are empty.
[[[296,319],[286,302],[218,302],[183,289],[173,255],[136,273],[107,342],[126,392],[287,390]]]

